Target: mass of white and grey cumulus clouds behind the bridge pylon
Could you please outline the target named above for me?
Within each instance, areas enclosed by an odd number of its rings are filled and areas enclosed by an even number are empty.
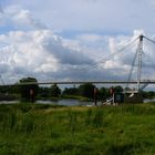
[[[134,30],[133,35],[81,32],[74,38],[62,38],[37,20],[28,9],[10,6],[3,10],[3,27],[10,28],[10,31],[0,34],[0,74],[10,82],[23,76],[35,76],[40,81],[126,80],[138,40],[121,54],[112,59],[107,56],[140,34],[155,37],[140,29]],[[154,78],[154,48],[153,43],[144,41],[144,79],[148,74]]]

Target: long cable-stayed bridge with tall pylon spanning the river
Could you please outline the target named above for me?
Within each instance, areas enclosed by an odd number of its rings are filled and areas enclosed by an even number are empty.
[[[128,48],[131,44],[135,43],[135,41],[138,41],[137,43],[137,49],[132,62],[132,66],[128,73],[128,79],[125,81],[50,81],[50,82],[24,82],[24,83],[16,83],[16,84],[4,84],[1,75],[1,85],[28,85],[28,84],[39,84],[39,85],[48,85],[48,84],[84,84],[84,83],[93,83],[93,84],[126,84],[126,87],[128,87],[130,84],[136,84],[136,90],[137,92],[141,91],[142,89],[144,89],[145,86],[147,86],[148,84],[155,84],[155,80],[142,80],[141,79],[141,74],[142,74],[142,56],[143,56],[143,40],[147,40],[149,42],[152,42],[153,44],[155,44],[155,41],[152,39],[148,39],[147,37],[144,35],[140,35],[137,38],[135,38],[134,40],[132,40],[131,42],[128,42],[126,45],[124,45],[122,49],[120,49],[118,51],[110,54],[108,56],[104,58],[103,60],[99,61],[96,64],[90,65],[87,69],[82,70],[82,71],[87,71],[91,70],[93,68],[96,68],[99,63],[105,63],[108,60],[113,59],[115,55],[121,54],[126,48]],[[136,66],[137,71],[136,71],[136,80],[132,80],[132,74],[133,74],[133,70]]]

